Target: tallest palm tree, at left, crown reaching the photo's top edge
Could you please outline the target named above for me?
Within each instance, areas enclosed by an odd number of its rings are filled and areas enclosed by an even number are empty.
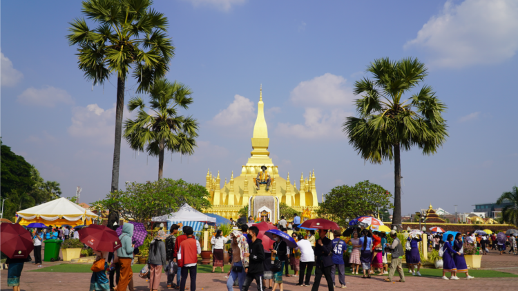
[[[169,21],[151,8],[151,0],[87,0],[81,12],[98,26],[90,29],[84,18],[70,22],[67,35],[70,46],[78,46],[78,66],[84,77],[104,85],[112,75],[117,77],[115,112],[115,145],[111,192],[119,189],[122,114],[126,79],[133,77],[137,92],[153,88],[156,79],[169,70],[175,48],[166,35]],[[113,225],[111,212],[108,225]]]

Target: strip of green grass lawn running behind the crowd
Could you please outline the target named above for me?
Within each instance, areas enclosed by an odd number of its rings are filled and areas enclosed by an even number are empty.
[[[90,264],[75,264],[75,263],[61,263],[59,265],[52,265],[46,268],[39,268],[37,270],[32,270],[30,272],[57,272],[57,273],[90,273]],[[135,264],[132,266],[133,272],[137,273],[144,267],[144,265]],[[230,265],[224,266],[225,272],[230,270]],[[349,271],[349,268],[345,268],[345,274],[347,276],[362,276],[362,274],[353,275]],[[198,273],[209,273],[212,271],[212,265],[200,265],[198,264]],[[163,272],[163,271],[162,271]],[[221,272],[220,268],[216,268],[215,272]],[[361,270],[360,270],[361,272]],[[289,270],[290,274],[294,274],[293,270]],[[443,270],[440,269],[421,269],[421,274],[423,277],[442,277]],[[448,277],[450,277],[449,273],[446,273]],[[518,275],[510,274],[506,272],[492,271],[492,270],[470,270],[470,275],[476,278],[504,278],[504,277],[518,277]],[[376,275],[374,275],[376,276]],[[385,275],[386,277],[387,275]],[[399,277],[399,274],[395,274],[396,277]],[[412,276],[409,272],[405,270],[405,277]],[[458,274],[460,279],[465,278],[464,274]]]

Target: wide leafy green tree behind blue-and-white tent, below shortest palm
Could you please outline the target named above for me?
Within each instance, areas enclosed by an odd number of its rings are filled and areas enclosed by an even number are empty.
[[[111,192],[106,199],[92,205],[101,210],[113,209],[125,219],[144,223],[151,221],[152,217],[178,211],[184,203],[197,210],[211,208],[208,197],[209,192],[202,185],[182,179],[159,179],[148,183],[126,183],[126,190]]]

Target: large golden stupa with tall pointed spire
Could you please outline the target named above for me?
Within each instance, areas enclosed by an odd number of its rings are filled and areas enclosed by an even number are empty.
[[[221,187],[220,184],[220,172],[218,171],[217,176],[213,176],[209,169],[205,187],[211,195],[209,200],[213,204],[213,207],[204,212],[218,214],[227,219],[237,219],[239,210],[248,205],[249,215],[257,218],[263,216],[258,210],[262,210],[262,212],[267,211],[269,212],[268,218],[275,223],[279,217],[278,204],[286,203],[291,208],[299,212],[304,212],[306,217],[309,216],[309,213],[311,213],[311,218],[314,217],[314,210],[318,208],[315,171],[310,172],[309,177],[304,177],[304,174],[301,174],[298,188],[295,182],[291,183],[291,181],[289,181],[289,173],[286,179],[280,177],[278,167],[274,165],[274,162],[271,161],[269,157],[268,128],[264,108],[265,103],[262,101],[261,88],[257,119],[255,126],[253,126],[253,136],[251,139],[253,149],[251,151],[251,157],[248,159],[248,163],[241,167],[240,175],[234,177],[232,172],[229,183],[227,183],[227,179],[225,178],[223,187]],[[255,180],[263,165],[266,166],[266,172],[268,172],[271,177],[271,185],[268,191],[266,190],[267,185],[265,184],[260,185],[259,190],[256,189]],[[257,199],[257,197],[263,198]],[[274,199],[270,199],[273,202],[270,201],[268,205],[265,204],[260,208],[257,205],[258,202],[254,203],[254,201],[265,200],[264,197],[274,197]],[[291,217],[288,219],[291,219]]]

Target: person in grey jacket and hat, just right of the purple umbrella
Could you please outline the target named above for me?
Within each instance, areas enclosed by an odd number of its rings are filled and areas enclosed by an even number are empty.
[[[167,238],[164,230],[160,230],[157,236],[149,245],[149,290],[156,291],[160,288],[160,279],[162,279],[162,268],[166,263],[166,243]]]

